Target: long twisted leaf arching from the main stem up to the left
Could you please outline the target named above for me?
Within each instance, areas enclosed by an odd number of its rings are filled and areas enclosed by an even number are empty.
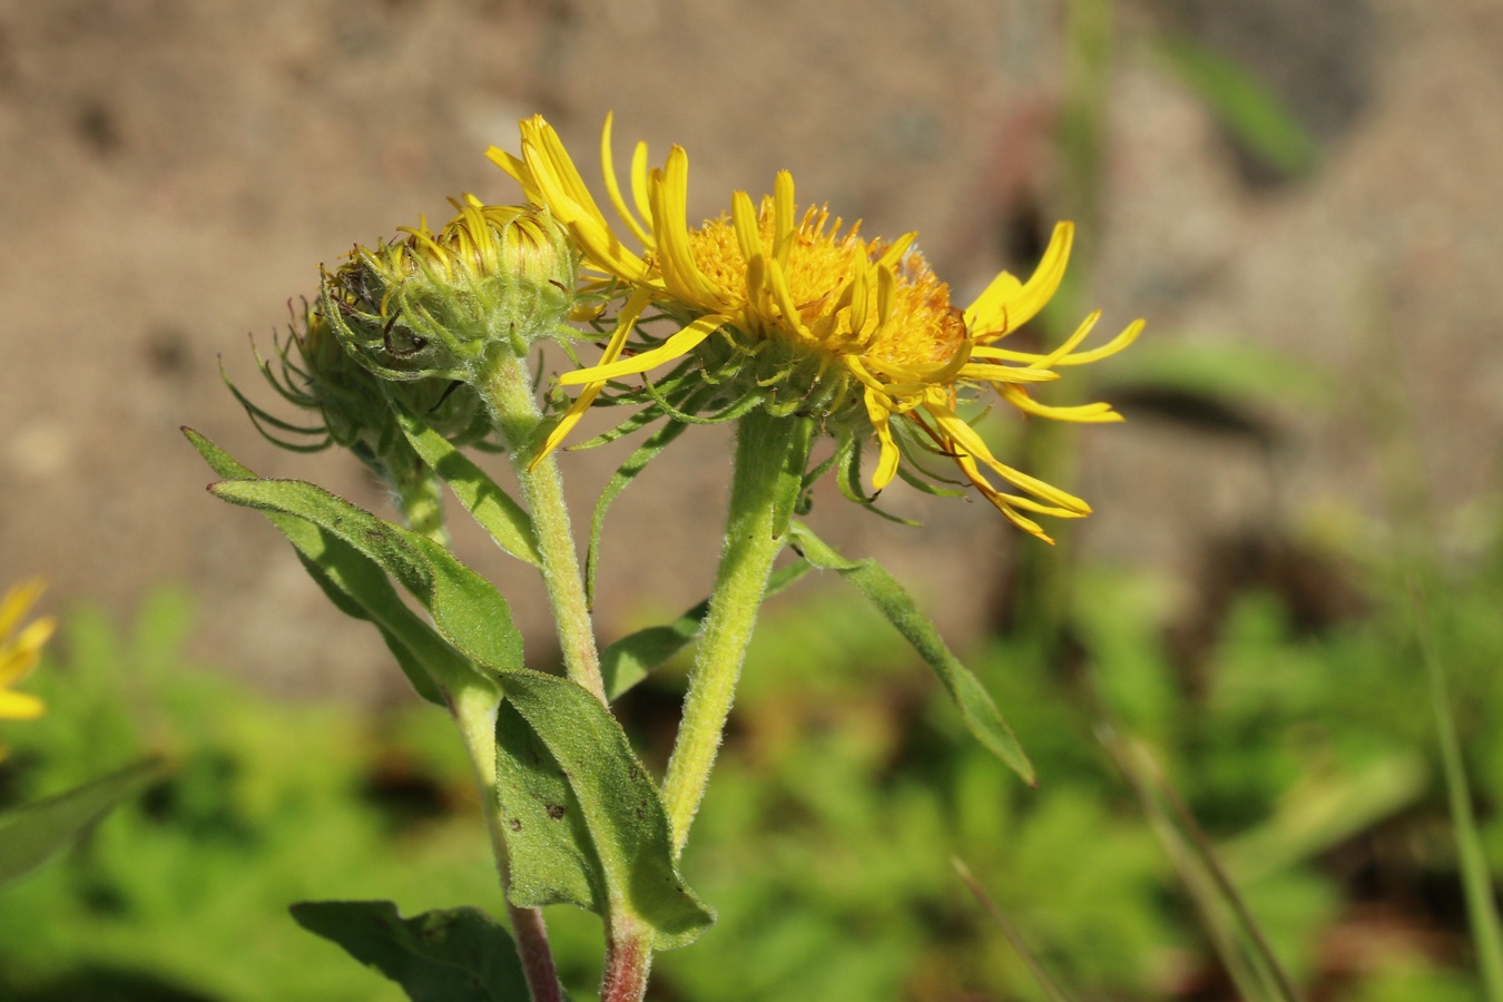
[[[380,565],[433,616],[434,626],[470,662],[494,673],[507,700],[553,757],[583,819],[589,844],[573,858],[592,867],[592,895],[607,922],[631,921],[654,930],[654,945],[691,942],[714,915],[684,886],[673,865],[667,814],[657,787],[637,762],[621,724],[583,687],[523,667],[522,638],[500,593],[427,536],[377,518],[302,481],[224,481],[212,491],[236,505],[305,518]],[[517,768],[522,768],[517,765]],[[531,768],[531,766],[529,766]],[[568,807],[565,805],[565,811]],[[531,835],[523,820],[525,837]],[[517,829],[507,825],[511,835]],[[559,871],[577,864],[562,861]],[[520,885],[528,874],[514,876]],[[546,885],[540,876],[534,883]],[[564,891],[559,891],[562,895]]]

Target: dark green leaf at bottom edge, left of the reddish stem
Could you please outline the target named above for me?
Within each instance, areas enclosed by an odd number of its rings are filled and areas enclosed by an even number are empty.
[[[391,901],[302,901],[292,916],[401,985],[412,1002],[528,1002],[517,948],[472,907],[401,918]]]

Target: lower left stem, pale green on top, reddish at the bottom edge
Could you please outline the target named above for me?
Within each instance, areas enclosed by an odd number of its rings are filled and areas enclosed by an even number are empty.
[[[475,769],[481,813],[485,816],[485,831],[490,832],[490,847],[496,855],[496,871],[500,876],[502,894],[505,894],[511,888],[511,856],[500,831],[500,813],[496,810],[496,709],[499,706],[499,690],[478,681],[461,687],[457,693],[449,693],[449,709],[464,738],[470,766]],[[517,907],[508,900],[507,915],[511,919],[511,934],[517,943],[517,955],[522,957],[522,970],[528,978],[532,1002],[562,1002],[564,993],[553,966],[553,949],[549,946],[543,910]]]

